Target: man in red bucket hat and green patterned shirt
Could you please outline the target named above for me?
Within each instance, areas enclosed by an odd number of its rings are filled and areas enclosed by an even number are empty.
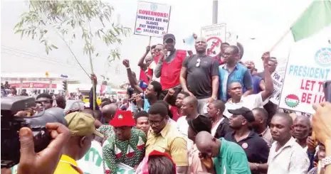
[[[117,111],[110,125],[114,134],[103,143],[105,173],[117,173],[116,163],[136,168],[145,156],[146,134],[140,129],[132,129],[135,120],[129,111]]]

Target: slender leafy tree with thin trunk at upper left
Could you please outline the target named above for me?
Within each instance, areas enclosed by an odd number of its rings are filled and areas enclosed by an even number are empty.
[[[28,1],[29,10],[21,15],[21,20],[14,27],[15,33],[21,33],[21,37],[26,36],[32,39],[38,39],[45,45],[45,51],[48,54],[50,50],[58,49],[56,45],[48,39],[49,30],[55,31],[63,40],[75,58],[78,65],[80,62],[70,48],[65,38],[76,39],[81,35],[83,39],[83,53],[90,59],[90,68],[93,71],[93,58],[100,54],[93,46],[94,38],[103,40],[103,43],[109,48],[107,60],[110,62],[115,58],[120,58],[120,53],[112,45],[122,43],[121,36],[128,36],[130,28],[121,26],[111,21],[114,9],[110,4],[100,0],[91,1]],[[98,23],[95,23],[97,21]],[[93,27],[91,27],[93,22]],[[83,66],[80,65],[84,70]],[[84,70],[89,76],[88,72]],[[90,77],[90,76],[89,76]],[[93,82],[93,90],[95,84]],[[93,99],[95,93],[93,92]],[[93,102],[93,109],[95,103]]]

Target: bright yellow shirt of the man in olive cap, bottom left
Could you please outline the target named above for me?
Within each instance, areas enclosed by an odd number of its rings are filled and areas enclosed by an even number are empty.
[[[62,155],[54,174],[83,174],[76,161],[69,156]]]

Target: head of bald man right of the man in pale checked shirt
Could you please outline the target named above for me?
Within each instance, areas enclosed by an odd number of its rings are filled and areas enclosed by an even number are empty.
[[[303,147],[303,150],[307,151],[307,138],[312,133],[312,126],[308,116],[297,116],[293,123],[292,136],[295,141]]]

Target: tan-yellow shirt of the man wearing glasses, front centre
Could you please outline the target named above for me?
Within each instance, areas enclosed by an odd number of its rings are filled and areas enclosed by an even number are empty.
[[[169,154],[178,167],[189,165],[186,140],[178,129],[169,123],[159,134],[149,130],[146,156],[154,150]]]

